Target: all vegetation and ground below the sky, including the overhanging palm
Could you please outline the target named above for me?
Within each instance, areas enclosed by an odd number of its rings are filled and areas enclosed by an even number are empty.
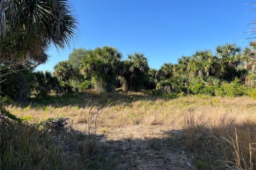
[[[159,70],[140,52],[73,49],[69,1],[0,2],[0,169],[255,169],[256,45]]]

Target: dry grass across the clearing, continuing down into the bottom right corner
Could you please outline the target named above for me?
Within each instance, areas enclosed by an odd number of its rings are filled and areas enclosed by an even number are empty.
[[[74,128],[87,131],[85,117],[89,116],[88,106],[107,106],[111,103],[101,115],[100,132],[135,124],[175,126],[185,129],[184,145],[195,152],[198,169],[256,167],[256,100],[250,97],[187,96],[166,100],[129,92],[87,95],[83,97],[86,100],[77,98],[79,105],[73,102],[69,106],[67,101],[58,105],[8,106],[6,109],[30,122],[49,117],[69,117]],[[92,112],[97,112],[97,107]]]

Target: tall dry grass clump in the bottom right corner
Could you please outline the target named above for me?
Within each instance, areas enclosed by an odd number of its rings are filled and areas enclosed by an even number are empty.
[[[239,120],[235,115],[218,114],[208,116],[209,121],[193,113],[185,116],[184,143],[195,152],[197,168],[255,169],[255,122]],[[211,118],[214,121],[210,121]]]

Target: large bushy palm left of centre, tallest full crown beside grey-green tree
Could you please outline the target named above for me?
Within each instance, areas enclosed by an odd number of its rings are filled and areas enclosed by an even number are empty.
[[[95,89],[113,92],[121,58],[122,54],[110,46],[87,50],[82,59],[81,72],[92,77]]]

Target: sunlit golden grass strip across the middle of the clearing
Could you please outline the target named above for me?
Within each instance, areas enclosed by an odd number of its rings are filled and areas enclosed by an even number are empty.
[[[101,115],[100,124],[107,127],[133,124],[164,124],[177,125],[184,128],[184,116],[189,113],[195,114],[197,121],[206,123],[206,125],[215,124],[217,126],[220,124],[219,118],[224,115],[225,118],[236,117],[236,122],[246,119],[256,120],[256,100],[249,97],[187,96],[166,100],[145,95],[138,99],[131,98],[131,96],[135,95],[138,94],[131,93],[130,98],[121,96],[123,97],[122,99],[117,94],[107,97],[99,96],[101,99],[106,98],[105,103],[102,103],[101,106],[108,106]],[[118,99],[111,101],[113,98]],[[83,103],[83,101],[78,102]],[[84,107],[68,106],[67,103],[62,107],[49,104],[39,107],[30,105],[27,107],[8,106],[6,109],[19,117],[33,122],[50,117],[65,116],[73,120],[73,125],[78,127],[87,123],[85,117],[89,115],[90,107],[88,106],[95,105],[95,102],[97,102],[97,97],[90,101],[84,101]],[[93,108],[92,112],[96,111],[97,106]]]

